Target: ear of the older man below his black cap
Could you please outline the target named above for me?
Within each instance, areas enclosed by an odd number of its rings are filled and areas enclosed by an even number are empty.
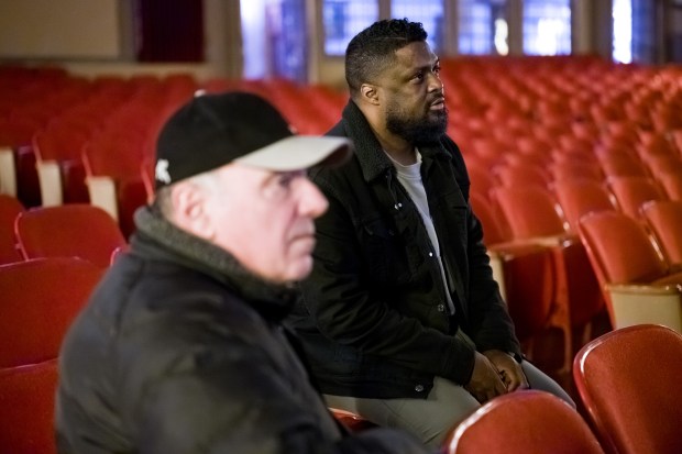
[[[215,230],[207,200],[207,189],[193,181],[179,181],[170,191],[174,222],[183,230],[210,240]]]

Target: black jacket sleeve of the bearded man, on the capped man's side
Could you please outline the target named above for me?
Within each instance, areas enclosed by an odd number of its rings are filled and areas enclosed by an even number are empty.
[[[329,210],[316,222],[311,275],[301,284],[306,309],[320,332],[366,354],[459,384],[469,381],[473,350],[452,335],[403,314],[393,301],[370,290],[371,273],[348,210],[334,197],[338,186],[320,185]],[[345,188],[345,190],[350,190]]]

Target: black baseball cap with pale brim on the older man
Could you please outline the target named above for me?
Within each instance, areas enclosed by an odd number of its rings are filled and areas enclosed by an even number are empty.
[[[277,109],[256,95],[201,95],[175,112],[160,132],[156,187],[229,163],[289,171],[340,165],[352,153],[345,137],[294,134]]]

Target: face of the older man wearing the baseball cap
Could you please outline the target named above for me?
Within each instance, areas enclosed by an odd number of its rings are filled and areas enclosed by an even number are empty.
[[[252,273],[274,283],[300,280],[312,269],[315,218],[327,199],[305,170],[272,173],[239,164],[218,171],[209,200],[212,241]]]

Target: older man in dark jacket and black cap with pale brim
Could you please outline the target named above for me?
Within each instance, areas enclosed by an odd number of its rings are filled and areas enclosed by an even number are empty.
[[[327,200],[306,169],[348,140],[294,136],[248,93],[195,98],[157,142],[156,198],[62,348],[61,453],[421,453],[350,435],[280,324]]]

